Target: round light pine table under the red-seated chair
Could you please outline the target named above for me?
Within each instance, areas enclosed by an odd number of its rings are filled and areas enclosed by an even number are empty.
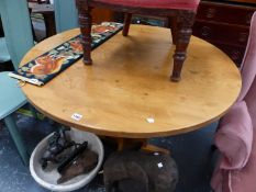
[[[79,34],[70,30],[35,45],[21,66]],[[168,29],[132,25],[43,87],[22,87],[43,114],[64,125],[123,140],[182,134],[220,118],[238,97],[237,67],[210,43],[192,37],[180,82],[172,70]],[[71,116],[82,117],[77,121]]]

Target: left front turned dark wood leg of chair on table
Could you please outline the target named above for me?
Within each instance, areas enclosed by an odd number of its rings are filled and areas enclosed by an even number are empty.
[[[81,44],[84,49],[84,63],[86,65],[91,65],[91,8],[88,7],[87,1],[85,0],[77,0],[76,4],[78,9],[78,20],[82,35]]]

